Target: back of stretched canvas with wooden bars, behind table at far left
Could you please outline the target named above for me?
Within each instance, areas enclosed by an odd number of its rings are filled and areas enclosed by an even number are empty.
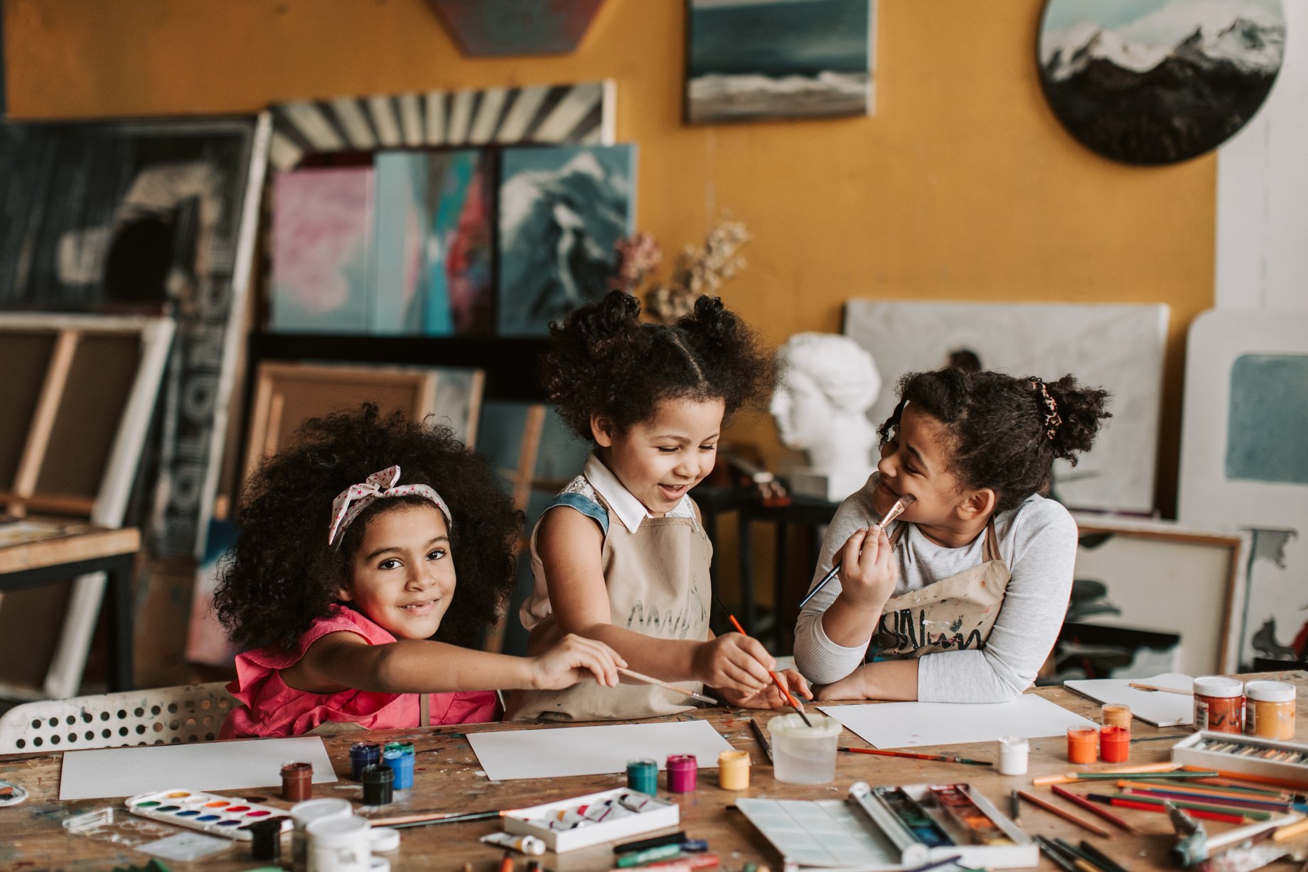
[[[173,346],[167,318],[0,314],[0,509],[119,527]],[[86,667],[105,575],[0,599],[0,694],[69,697]],[[52,626],[58,624],[58,629]]]

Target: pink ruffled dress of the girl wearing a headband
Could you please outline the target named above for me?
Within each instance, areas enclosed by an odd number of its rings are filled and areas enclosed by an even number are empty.
[[[327,633],[358,633],[369,645],[395,641],[354,609],[341,605],[331,609],[328,617],[314,621],[300,637],[294,654],[259,648],[237,655],[237,680],[228,685],[228,692],[245,705],[228,715],[218,739],[301,736],[326,722],[356,723],[365,729],[421,726],[420,694],[416,693],[310,693],[288,688],[281,680],[281,669],[297,663],[309,646]],[[433,724],[485,723],[501,716],[498,699],[490,690],[428,696]]]

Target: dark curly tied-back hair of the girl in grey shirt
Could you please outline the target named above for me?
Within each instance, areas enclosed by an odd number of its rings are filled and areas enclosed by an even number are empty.
[[[1112,417],[1108,391],[1082,387],[1071,375],[1045,383],[954,366],[905,374],[899,396],[895,412],[878,429],[882,444],[899,429],[904,407],[913,403],[944,425],[952,441],[950,472],[961,488],[994,490],[995,511],[1016,509],[1031,494],[1045,492],[1054,460],[1075,465],[1076,455],[1090,450],[1104,420]],[[1061,421],[1053,424],[1053,414]]]

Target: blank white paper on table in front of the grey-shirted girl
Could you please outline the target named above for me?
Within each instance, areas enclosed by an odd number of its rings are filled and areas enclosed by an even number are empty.
[[[999,736],[1061,736],[1067,727],[1093,727],[1078,714],[1024,693],[1011,702],[879,702],[819,706],[874,748],[960,745]]]

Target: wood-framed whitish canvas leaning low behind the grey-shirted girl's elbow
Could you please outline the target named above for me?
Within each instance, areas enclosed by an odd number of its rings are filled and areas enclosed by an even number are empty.
[[[1118,616],[1087,617],[1082,624],[1180,633],[1179,672],[1236,671],[1248,532],[1165,520],[1074,518],[1082,540],[1075,578],[1103,582],[1108,601],[1121,609]]]

